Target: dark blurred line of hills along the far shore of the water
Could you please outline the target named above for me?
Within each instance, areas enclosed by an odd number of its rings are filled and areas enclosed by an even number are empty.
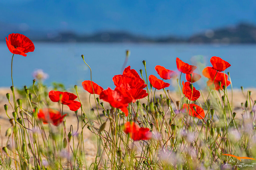
[[[1,24],[0,24],[1,25]],[[111,42],[111,43],[256,43],[256,26],[248,23],[240,23],[233,27],[207,30],[190,37],[162,36],[148,37],[135,35],[123,31],[98,32],[92,35],[78,35],[69,32],[39,32],[34,30],[15,31],[15,26],[11,25],[8,30],[4,27],[0,29],[0,37],[5,37],[9,33],[19,32],[25,34],[33,41],[40,42]],[[1,38],[4,41],[4,38]]]

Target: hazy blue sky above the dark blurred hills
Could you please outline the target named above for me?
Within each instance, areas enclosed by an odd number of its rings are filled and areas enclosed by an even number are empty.
[[[187,36],[239,22],[256,23],[255,9],[255,0],[9,0],[0,2],[0,31],[8,25],[23,30]]]

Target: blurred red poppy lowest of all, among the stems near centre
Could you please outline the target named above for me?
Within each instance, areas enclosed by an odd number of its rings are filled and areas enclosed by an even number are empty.
[[[124,124],[124,132],[129,134],[133,140],[149,140],[152,138],[152,132],[150,132],[149,128],[139,128],[134,122],[126,122]]]

